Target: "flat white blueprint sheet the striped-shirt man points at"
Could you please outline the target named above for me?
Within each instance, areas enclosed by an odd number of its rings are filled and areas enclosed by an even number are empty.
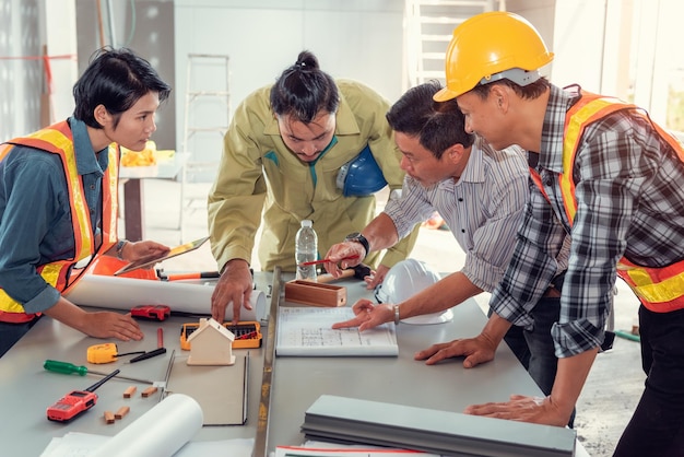
[[[296,356],[397,356],[399,345],[394,324],[382,324],[370,330],[358,328],[333,330],[334,323],[354,317],[351,307],[279,308],[276,355]]]

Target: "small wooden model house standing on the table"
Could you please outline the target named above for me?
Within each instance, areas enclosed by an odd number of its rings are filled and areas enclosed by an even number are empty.
[[[188,365],[233,365],[234,340],[235,335],[219,321],[200,319],[199,328],[188,337],[191,343]]]

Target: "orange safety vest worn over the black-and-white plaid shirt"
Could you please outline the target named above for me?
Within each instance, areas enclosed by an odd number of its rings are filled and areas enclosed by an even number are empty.
[[[648,115],[636,105],[582,91],[581,98],[573,105],[565,116],[563,173],[558,177],[563,203],[570,225],[577,213],[573,165],[575,164],[579,140],[587,126],[618,110],[629,110],[633,115],[647,119],[658,134],[676,151],[680,160],[684,162],[684,147],[672,134],[652,122]],[[532,180],[549,199],[539,174],[533,169],[530,172]],[[652,312],[668,313],[684,308],[684,260],[667,267],[652,268],[638,266],[623,257],[617,262],[617,276],[632,288],[644,306]]]

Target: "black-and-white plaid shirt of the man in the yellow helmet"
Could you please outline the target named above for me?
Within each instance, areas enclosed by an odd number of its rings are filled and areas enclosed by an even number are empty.
[[[553,279],[554,258],[569,233],[561,318],[552,330],[559,358],[603,341],[623,256],[646,267],[684,258],[684,166],[647,120],[625,112],[598,120],[582,134],[573,171],[577,214],[570,227],[558,175],[565,114],[577,96],[551,87],[536,166],[551,204],[531,184],[511,262],[491,302],[499,316],[531,326],[529,312]]]

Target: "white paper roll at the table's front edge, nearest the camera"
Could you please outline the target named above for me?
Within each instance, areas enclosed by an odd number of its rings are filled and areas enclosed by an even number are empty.
[[[91,457],[170,457],[202,427],[202,408],[174,394],[99,446]]]

